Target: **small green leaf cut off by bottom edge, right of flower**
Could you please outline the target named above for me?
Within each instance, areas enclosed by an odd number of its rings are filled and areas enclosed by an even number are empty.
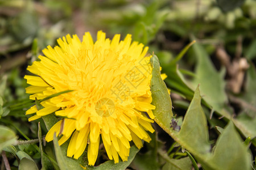
[[[192,167],[191,160],[186,157],[186,158],[181,158],[181,159],[171,159],[166,157],[167,162],[163,166],[163,170],[190,170]]]

